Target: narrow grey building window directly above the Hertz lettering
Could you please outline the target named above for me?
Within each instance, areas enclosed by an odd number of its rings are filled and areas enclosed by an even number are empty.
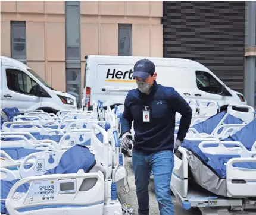
[[[132,24],[118,24],[118,55],[132,56]]]

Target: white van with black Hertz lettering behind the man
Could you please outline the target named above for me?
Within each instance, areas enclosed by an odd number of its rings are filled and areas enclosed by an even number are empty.
[[[133,65],[145,57],[135,56],[85,56],[85,87],[83,106],[101,100],[113,108],[124,103],[129,90],[137,88],[132,77]],[[155,64],[157,83],[173,87],[186,100],[214,100],[222,109],[230,103],[246,105],[245,97],[225,86],[204,65],[179,58],[149,58]]]

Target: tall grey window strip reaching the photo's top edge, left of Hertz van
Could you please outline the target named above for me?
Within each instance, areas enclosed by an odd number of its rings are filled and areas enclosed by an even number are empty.
[[[79,1],[66,1],[65,10],[66,59],[80,60]]]

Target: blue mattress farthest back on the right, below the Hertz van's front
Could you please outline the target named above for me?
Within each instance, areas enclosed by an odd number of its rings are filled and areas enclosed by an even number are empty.
[[[198,124],[193,125],[191,128],[195,128],[199,133],[211,134],[214,129],[217,127],[218,123],[223,119],[226,112],[222,111],[217,113],[216,115],[211,116],[204,122],[199,122]],[[241,119],[236,118],[235,116],[228,115],[226,119],[223,121],[224,124],[242,124],[243,121]],[[219,132],[221,132],[220,129]]]

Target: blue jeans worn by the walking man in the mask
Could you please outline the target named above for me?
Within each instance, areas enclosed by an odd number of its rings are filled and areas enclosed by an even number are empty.
[[[132,162],[139,205],[138,213],[140,215],[149,214],[148,185],[152,170],[160,214],[174,215],[170,190],[171,173],[174,167],[173,151],[160,151],[152,154],[133,151]]]

